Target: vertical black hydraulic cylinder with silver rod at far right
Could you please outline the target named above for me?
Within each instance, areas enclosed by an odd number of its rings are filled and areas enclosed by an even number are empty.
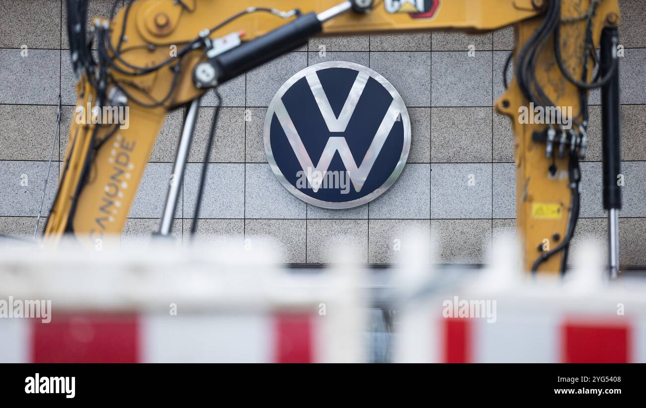
[[[599,77],[614,70],[614,75],[601,87],[601,130],[603,134],[603,208],[608,211],[608,244],[610,278],[619,273],[619,210],[621,210],[621,145],[619,59],[617,28],[601,32],[601,61]],[[613,67],[614,65],[614,67]]]

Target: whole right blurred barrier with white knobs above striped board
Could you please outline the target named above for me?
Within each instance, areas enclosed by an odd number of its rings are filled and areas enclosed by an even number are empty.
[[[403,265],[396,360],[646,362],[644,282],[604,281],[600,253],[579,250],[564,280],[523,274],[508,243],[475,276],[438,270],[429,282],[428,265]]]

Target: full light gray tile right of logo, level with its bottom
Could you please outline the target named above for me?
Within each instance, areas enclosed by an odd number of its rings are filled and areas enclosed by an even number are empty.
[[[491,218],[490,163],[432,164],[431,218]]]

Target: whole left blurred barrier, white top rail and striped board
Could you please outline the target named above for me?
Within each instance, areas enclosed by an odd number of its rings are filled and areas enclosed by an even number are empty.
[[[0,362],[364,360],[357,267],[238,247],[3,249]]]

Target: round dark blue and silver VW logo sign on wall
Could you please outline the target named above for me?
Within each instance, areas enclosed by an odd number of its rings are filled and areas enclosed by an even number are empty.
[[[264,126],[267,161],[307,203],[347,209],[395,183],[410,150],[401,96],[370,68],[344,61],[308,66],[272,99]]]

